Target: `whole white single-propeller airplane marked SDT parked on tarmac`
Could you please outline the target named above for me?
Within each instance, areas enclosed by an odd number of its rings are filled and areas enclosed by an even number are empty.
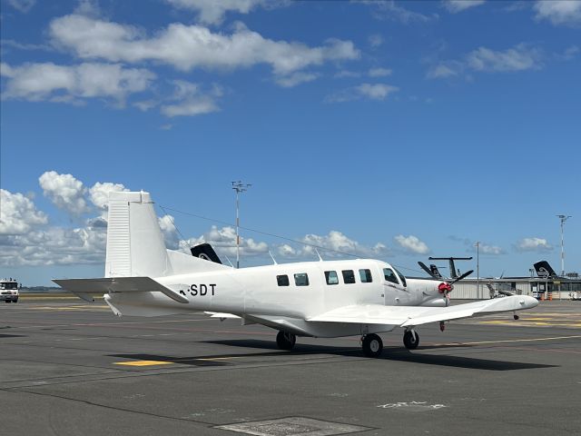
[[[103,292],[113,313],[158,316],[213,312],[278,330],[279,348],[291,350],[297,336],[360,335],[362,349],[378,357],[378,333],[404,329],[403,342],[416,349],[415,328],[537,306],[515,295],[449,306],[452,283],[406,279],[389,263],[357,259],[283,263],[235,269],[167,250],[149,193],[109,194],[105,278],[54,280],[91,301]]]

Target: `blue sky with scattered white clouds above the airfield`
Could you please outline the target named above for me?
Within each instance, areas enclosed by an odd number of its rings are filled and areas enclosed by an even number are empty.
[[[1,5],[0,276],[101,276],[121,189],[233,259],[239,179],[242,225],[296,241],[243,231],[242,266],[558,271],[565,213],[581,272],[581,2]]]

